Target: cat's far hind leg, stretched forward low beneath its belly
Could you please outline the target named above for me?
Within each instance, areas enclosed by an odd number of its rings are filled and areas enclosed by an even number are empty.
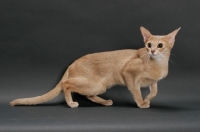
[[[98,104],[102,104],[105,106],[110,106],[113,104],[112,100],[105,100],[100,98],[99,96],[86,96],[89,100],[91,100],[92,102],[98,103]]]

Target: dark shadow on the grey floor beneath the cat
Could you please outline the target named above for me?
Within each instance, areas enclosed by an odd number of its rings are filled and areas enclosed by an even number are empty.
[[[108,97],[104,96],[103,98],[108,98]],[[101,104],[91,102],[85,96],[78,95],[78,94],[74,95],[74,101],[77,101],[79,103],[79,108],[89,108],[89,107],[119,108],[120,107],[120,108],[131,108],[131,109],[137,108],[137,109],[139,109],[137,104],[133,100],[129,100],[129,99],[122,100],[122,99],[118,99],[118,98],[114,98],[112,100],[113,100],[112,106],[103,106]],[[68,105],[66,104],[64,98],[62,98],[62,100],[59,100],[59,101],[48,102],[48,103],[36,105],[36,107],[43,107],[43,106],[59,106],[59,107],[69,108]],[[29,107],[33,107],[33,106],[29,106]],[[184,107],[180,104],[179,105],[166,104],[166,103],[163,103],[160,101],[160,102],[152,102],[151,106],[148,110],[157,111],[157,112],[181,112],[181,111],[188,111],[188,110],[192,110],[192,109],[189,107]]]

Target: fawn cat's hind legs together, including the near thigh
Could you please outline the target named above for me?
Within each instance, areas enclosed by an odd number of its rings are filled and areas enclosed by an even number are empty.
[[[96,88],[94,88],[96,86]],[[79,93],[85,95],[89,100],[99,103],[105,106],[110,106],[113,104],[112,100],[105,100],[96,95],[101,94],[106,89],[101,85],[96,83],[91,83],[87,78],[76,77],[70,78],[67,81],[63,82],[63,91],[65,93],[66,103],[71,108],[78,107],[77,102],[73,102],[71,92]]]

